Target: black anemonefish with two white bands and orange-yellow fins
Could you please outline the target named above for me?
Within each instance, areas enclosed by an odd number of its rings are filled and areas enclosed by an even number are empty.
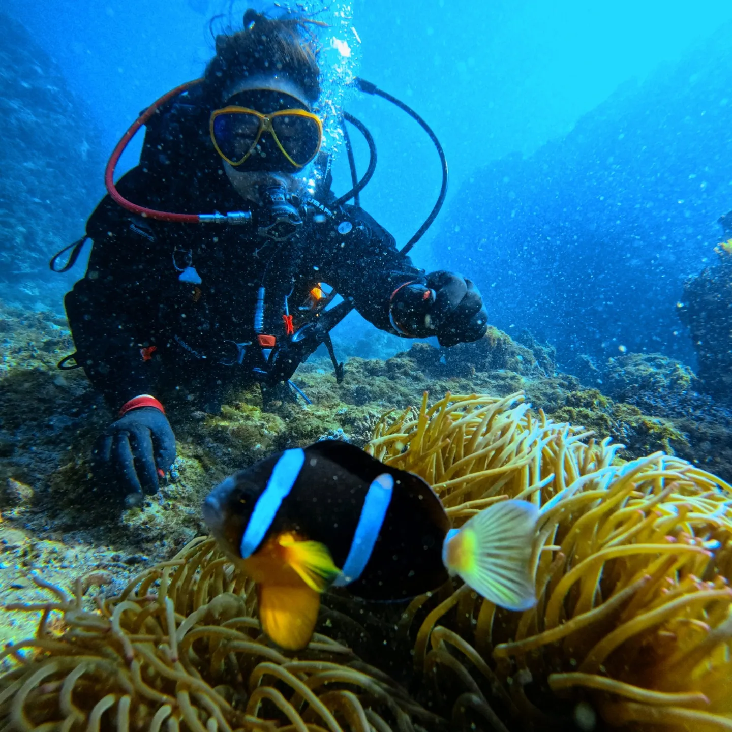
[[[283,649],[307,646],[331,586],[402,600],[459,575],[504,608],[535,602],[534,504],[501,501],[452,529],[424,480],[345,442],[288,449],[239,471],[209,493],[203,516],[255,581],[262,630]]]

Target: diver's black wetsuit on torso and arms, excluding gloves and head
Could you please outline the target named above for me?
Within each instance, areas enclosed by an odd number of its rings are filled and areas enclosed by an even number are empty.
[[[245,209],[204,133],[208,113],[184,102],[168,108],[149,127],[141,163],[119,182],[120,193],[166,211]],[[169,389],[206,408],[226,386],[250,381],[262,358],[254,329],[261,286],[264,333],[277,339],[287,328],[285,296],[297,329],[318,283],[391,329],[389,297],[402,283],[424,282],[422,271],[362,209],[337,206],[329,215],[310,203],[300,212],[298,233],[273,242],[246,225],[161,222],[102,200],[87,223],[94,246],[86,276],[65,305],[76,360],[112,408]],[[237,348],[245,343],[253,345]]]

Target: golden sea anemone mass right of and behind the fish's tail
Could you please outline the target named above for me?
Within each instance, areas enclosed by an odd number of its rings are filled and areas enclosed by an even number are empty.
[[[418,597],[415,668],[438,697],[461,690],[455,728],[591,728],[599,714],[732,729],[732,489],[660,452],[616,460],[609,438],[521,399],[425,395],[368,446],[430,482],[456,525],[507,497],[541,511],[537,605],[513,613],[465,585]]]

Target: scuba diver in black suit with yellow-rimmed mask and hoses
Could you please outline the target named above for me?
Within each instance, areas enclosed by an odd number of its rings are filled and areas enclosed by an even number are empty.
[[[340,198],[330,190],[307,22],[247,10],[241,31],[218,35],[203,78],[161,97],[122,138],[109,195],[56,270],[93,241],[64,301],[76,348],[67,359],[119,414],[92,470],[127,504],[156,493],[175,460],[163,403],[216,412],[225,389],[255,381],[265,401],[282,398],[321,343],[340,381],[328,332],[352,308],[441,346],[485,334],[470,280],[417,269],[369,214],[346,205],[358,203],[356,184]],[[143,124],[140,162],[115,183],[114,165]],[[336,293],[343,301],[332,305]]]

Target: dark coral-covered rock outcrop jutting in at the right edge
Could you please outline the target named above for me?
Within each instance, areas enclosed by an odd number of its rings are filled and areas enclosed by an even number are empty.
[[[718,261],[684,283],[677,308],[687,326],[699,360],[704,391],[732,401],[732,255],[717,247]]]

